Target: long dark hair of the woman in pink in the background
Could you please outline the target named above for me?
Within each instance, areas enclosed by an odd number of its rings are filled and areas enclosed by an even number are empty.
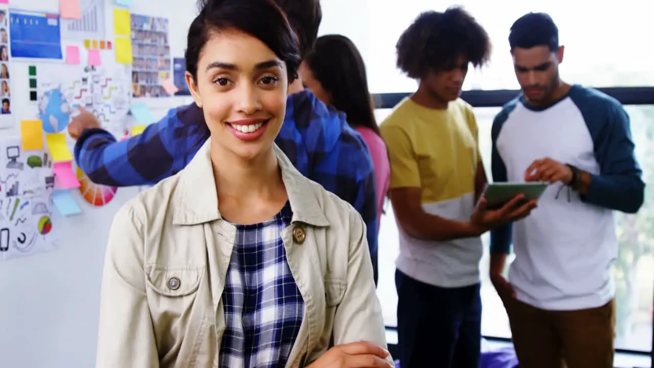
[[[379,135],[368,91],[366,65],[349,38],[342,35],[318,37],[305,62],[330,94],[332,105],[347,115],[351,126],[366,126]]]

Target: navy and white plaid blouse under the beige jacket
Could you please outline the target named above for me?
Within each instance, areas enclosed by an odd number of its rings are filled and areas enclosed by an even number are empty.
[[[284,367],[300,331],[304,301],[288,268],[281,232],[290,204],[264,223],[236,226],[222,293],[226,329],[221,368]]]

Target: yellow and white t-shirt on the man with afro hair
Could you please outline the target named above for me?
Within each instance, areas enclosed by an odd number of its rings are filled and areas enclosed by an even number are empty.
[[[420,187],[425,212],[470,219],[481,161],[472,107],[458,99],[447,109],[430,109],[405,98],[380,128],[390,156],[390,188]],[[424,241],[398,230],[396,266],[404,274],[439,287],[479,282],[481,238]]]

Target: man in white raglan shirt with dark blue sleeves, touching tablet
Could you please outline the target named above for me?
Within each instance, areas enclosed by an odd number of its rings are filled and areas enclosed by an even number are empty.
[[[521,368],[612,368],[613,211],[636,213],[644,196],[629,117],[613,98],[561,81],[564,48],[547,14],[519,18],[509,44],[523,93],[494,119],[493,179],[550,185],[530,217],[492,230],[490,278]]]

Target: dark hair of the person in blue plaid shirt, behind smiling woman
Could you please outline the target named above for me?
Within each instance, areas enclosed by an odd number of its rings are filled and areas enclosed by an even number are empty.
[[[213,1],[216,0],[198,0],[198,9],[203,9],[207,3]],[[300,55],[304,59],[318,37],[318,28],[322,21],[320,0],[273,0],[273,2],[284,12],[288,23],[298,36]]]

